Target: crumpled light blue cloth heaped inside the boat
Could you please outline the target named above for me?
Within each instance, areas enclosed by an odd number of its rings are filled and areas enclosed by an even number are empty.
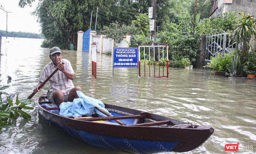
[[[73,102],[63,102],[60,104],[60,115],[72,115],[75,118],[79,118],[82,117],[82,115],[91,116],[92,112],[94,111],[99,115],[99,117],[107,116],[94,109],[94,107],[98,107],[108,112],[108,110],[105,109],[105,105],[102,103],[102,101],[85,96],[84,93],[80,91],[76,91],[76,93],[79,98],[74,99]]]

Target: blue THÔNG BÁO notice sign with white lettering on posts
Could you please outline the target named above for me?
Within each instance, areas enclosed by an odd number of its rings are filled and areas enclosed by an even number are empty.
[[[113,76],[114,67],[138,67],[138,48],[113,49]]]

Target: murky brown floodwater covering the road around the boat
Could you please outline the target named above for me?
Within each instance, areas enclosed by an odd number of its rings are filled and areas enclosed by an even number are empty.
[[[32,93],[39,72],[50,62],[49,48],[41,48],[41,42],[40,39],[2,38],[0,86],[10,85],[4,92],[19,94],[20,99]],[[95,80],[91,73],[91,54],[64,50],[62,58],[72,64],[76,73],[74,85],[103,103],[193,121],[215,129],[199,148],[184,153],[256,153],[256,80],[212,76],[207,70],[195,68],[169,68],[168,78],[145,78],[143,65],[141,78],[137,77],[137,68],[115,68],[113,76],[111,56],[99,54]],[[12,77],[11,82],[7,75]],[[47,83],[42,92],[48,88]],[[82,143],[38,117],[36,99],[42,92],[32,98],[35,103],[29,106],[34,110],[26,110],[31,118],[19,117],[11,120],[13,124],[2,127],[0,144],[8,148],[1,146],[0,153],[119,153]],[[225,144],[235,143],[243,149],[224,150]]]

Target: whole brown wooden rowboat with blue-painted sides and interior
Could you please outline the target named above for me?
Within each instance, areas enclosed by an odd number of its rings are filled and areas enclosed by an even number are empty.
[[[214,132],[211,127],[188,124],[172,118],[105,104],[108,117],[65,117],[47,108],[46,93],[37,100],[38,111],[48,122],[93,146],[127,153],[185,152],[202,145]],[[116,121],[119,122],[116,122]],[[118,123],[125,123],[120,125]],[[194,128],[193,128],[194,127]]]

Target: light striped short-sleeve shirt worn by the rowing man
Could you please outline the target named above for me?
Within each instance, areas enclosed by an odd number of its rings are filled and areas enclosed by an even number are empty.
[[[74,70],[70,64],[70,62],[66,59],[61,59],[61,62],[64,62],[65,69],[70,72],[74,73]],[[44,82],[47,77],[49,77],[54,70],[56,70],[56,66],[53,64],[53,62],[49,62],[46,66],[44,66],[44,69],[39,77],[40,82]],[[75,74],[75,73],[74,73]],[[69,90],[74,88],[74,84],[72,80],[68,79],[66,75],[61,72],[60,70],[57,71],[51,78],[50,78],[50,90],[48,92],[52,92],[55,90],[62,90],[64,92],[64,95],[69,94]]]

